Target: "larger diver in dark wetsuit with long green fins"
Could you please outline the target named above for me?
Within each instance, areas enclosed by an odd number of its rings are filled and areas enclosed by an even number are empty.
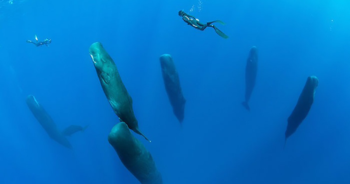
[[[187,13],[183,12],[182,10],[179,11],[179,16],[182,17],[182,20],[185,21],[188,25],[199,29],[199,30],[204,30],[207,27],[212,27],[215,29],[215,32],[221,36],[222,38],[229,38],[229,36],[225,35],[221,30],[219,30],[218,28],[216,28],[214,25],[211,25],[214,22],[218,22],[221,23],[222,25],[225,25],[224,22],[220,21],[220,20],[215,20],[212,22],[207,22],[207,23],[202,23],[200,22],[198,19],[196,19],[194,16],[188,15]]]

